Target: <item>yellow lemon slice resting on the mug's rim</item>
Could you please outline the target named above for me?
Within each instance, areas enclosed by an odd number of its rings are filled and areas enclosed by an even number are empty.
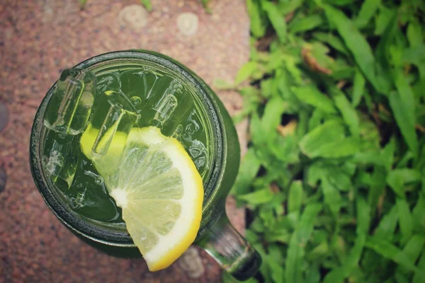
[[[96,133],[84,134],[81,149],[90,156],[89,145]],[[123,209],[128,232],[149,270],[161,270],[196,238],[202,216],[202,179],[179,141],[165,137],[157,127],[133,128],[125,146],[123,140],[115,136],[106,156],[92,155],[91,160]]]

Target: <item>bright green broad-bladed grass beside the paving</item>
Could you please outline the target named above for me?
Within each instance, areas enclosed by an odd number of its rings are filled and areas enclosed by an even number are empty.
[[[250,60],[216,84],[250,121],[232,189],[263,258],[250,282],[424,282],[424,6],[246,5]]]

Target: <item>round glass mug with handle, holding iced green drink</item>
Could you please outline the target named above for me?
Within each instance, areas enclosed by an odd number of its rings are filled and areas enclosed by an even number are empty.
[[[113,149],[118,152],[132,128],[148,126],[179,140],[202,177],[196,243],[235,277],[251,276],[261,259],[224,213],[239,167],[232,120],[198,76],[163,55],[99,55],[65,71],[47,93],[35,117],[30,152],[35,183],[50,209],[103,250],[115,255],[135,250],[120,208],[88,156],[104,155],[111,144],[118,144]]]

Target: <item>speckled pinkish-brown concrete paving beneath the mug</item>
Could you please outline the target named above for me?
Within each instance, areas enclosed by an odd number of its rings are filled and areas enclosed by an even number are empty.
[[[78,0],[0,2],[0,103],[8,108],[0,129],[0,168],[7,174],[0,190],[0,282],[220,282],[217,263],[202,250],[151,273],[143,260],[113,258],[82,243],[42,201],[28,164],[40,101],[62,69],[88,57],[143,48],[174,57],[210,85],[231,81],[249,54],[244,0],[210,2],[211,14],[198,0],[152,0],[152,13],[136,0],[88,0],[82,11]],[[236,93],[218,95],[229,112],[242,107]],[[239,125],[243,144],[245,127]],[[244,212],[232,201],[228,210],[242,231]]]

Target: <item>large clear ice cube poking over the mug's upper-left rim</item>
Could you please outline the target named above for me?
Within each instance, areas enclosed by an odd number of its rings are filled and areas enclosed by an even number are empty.
[[[84,132],[94,103],[96,77],[83,69],[66,69],[53,89],[45,125],[64,136]]]

